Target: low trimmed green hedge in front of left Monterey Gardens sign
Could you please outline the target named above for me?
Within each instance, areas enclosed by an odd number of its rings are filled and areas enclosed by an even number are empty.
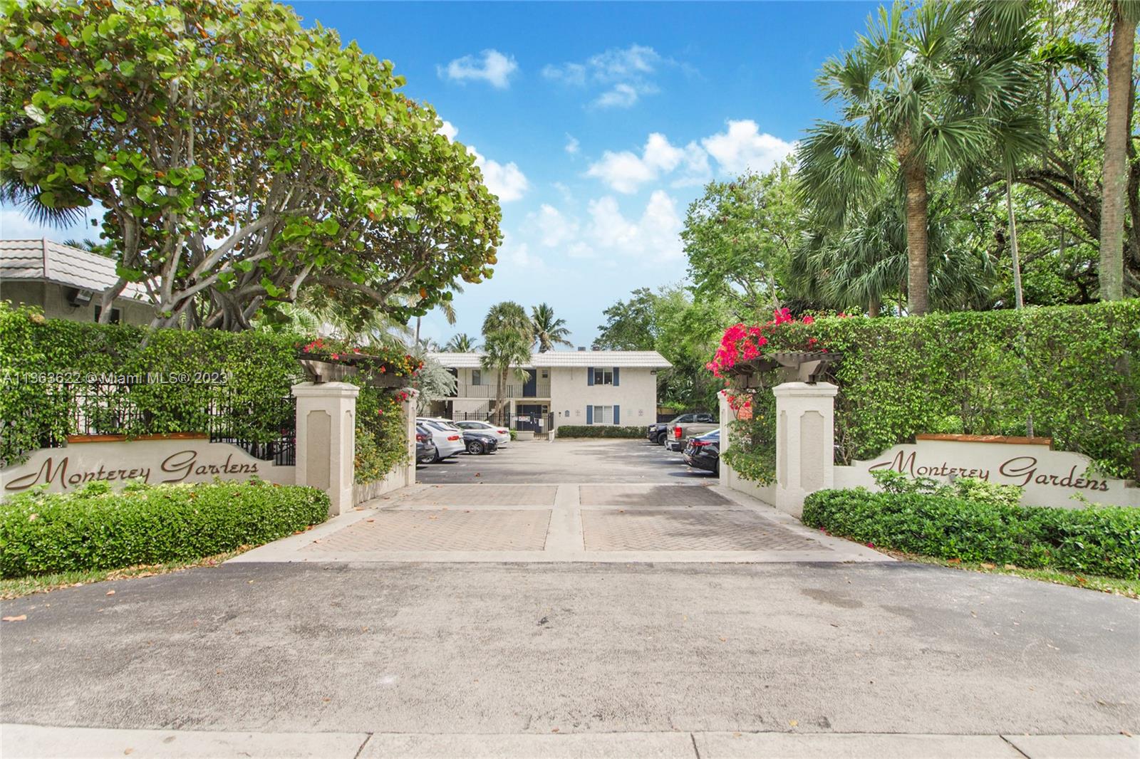
[[[327,515],[328,496],[316,488],[263,481],[24,492],[0,503],[0,576],[192,561],[283,538]]]

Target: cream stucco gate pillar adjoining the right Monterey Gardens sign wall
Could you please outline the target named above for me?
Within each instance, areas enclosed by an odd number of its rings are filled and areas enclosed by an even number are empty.
[[[836,393],[829,383],[785,382],[776,397],[775,507],[799,519],[804,498],[834,484]]]

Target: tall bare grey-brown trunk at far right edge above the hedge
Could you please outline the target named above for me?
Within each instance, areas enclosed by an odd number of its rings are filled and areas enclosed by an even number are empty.
[[[1104,201],[1100,207],[1100,300],[1124,297],[1124,188],[1126,186],[1129,100],[1135,21],[1123,0],[1113,2],[1113,39],[1108,46],[1108,119],[1105,124]]]

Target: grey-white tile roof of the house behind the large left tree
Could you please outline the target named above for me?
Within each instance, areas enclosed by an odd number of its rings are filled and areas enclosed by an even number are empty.
[[[35,279],[101,293],[119,281],[115,261],[50,239],[0,239],[0,279]],[[149,301],[146,288],[131,283],[122,297]]]

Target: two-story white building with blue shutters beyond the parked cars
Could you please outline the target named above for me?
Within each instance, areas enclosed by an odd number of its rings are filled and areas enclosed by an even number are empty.
[[[486,419],[498,378],[482,353],[432,353],[458,381],[438,411],[455,419]],[[657,351],[547,351],[507,375],[505,413],[520,430],[562,425],[642,425],[657,422],[657,373],[671,365]],[[505,422],[505,419],[504,419]]]

